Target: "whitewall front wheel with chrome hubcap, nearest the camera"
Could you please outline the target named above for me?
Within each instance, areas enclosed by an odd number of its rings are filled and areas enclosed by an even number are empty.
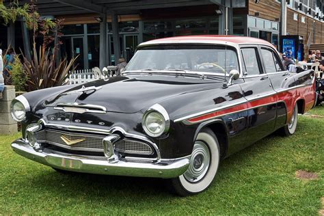
[[[219,165],[219,143],[211,129],[198,133],[188,170],[171,179],[173,191],[186,196],[200,193],[213,182]]]

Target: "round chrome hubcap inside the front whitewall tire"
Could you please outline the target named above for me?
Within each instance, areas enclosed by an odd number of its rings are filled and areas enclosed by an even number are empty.
[[[208,146],[203,141],[195,141],[189,168],[183,176],[190,183],[196,183],[204,178],[210,163],[211,153]]]

